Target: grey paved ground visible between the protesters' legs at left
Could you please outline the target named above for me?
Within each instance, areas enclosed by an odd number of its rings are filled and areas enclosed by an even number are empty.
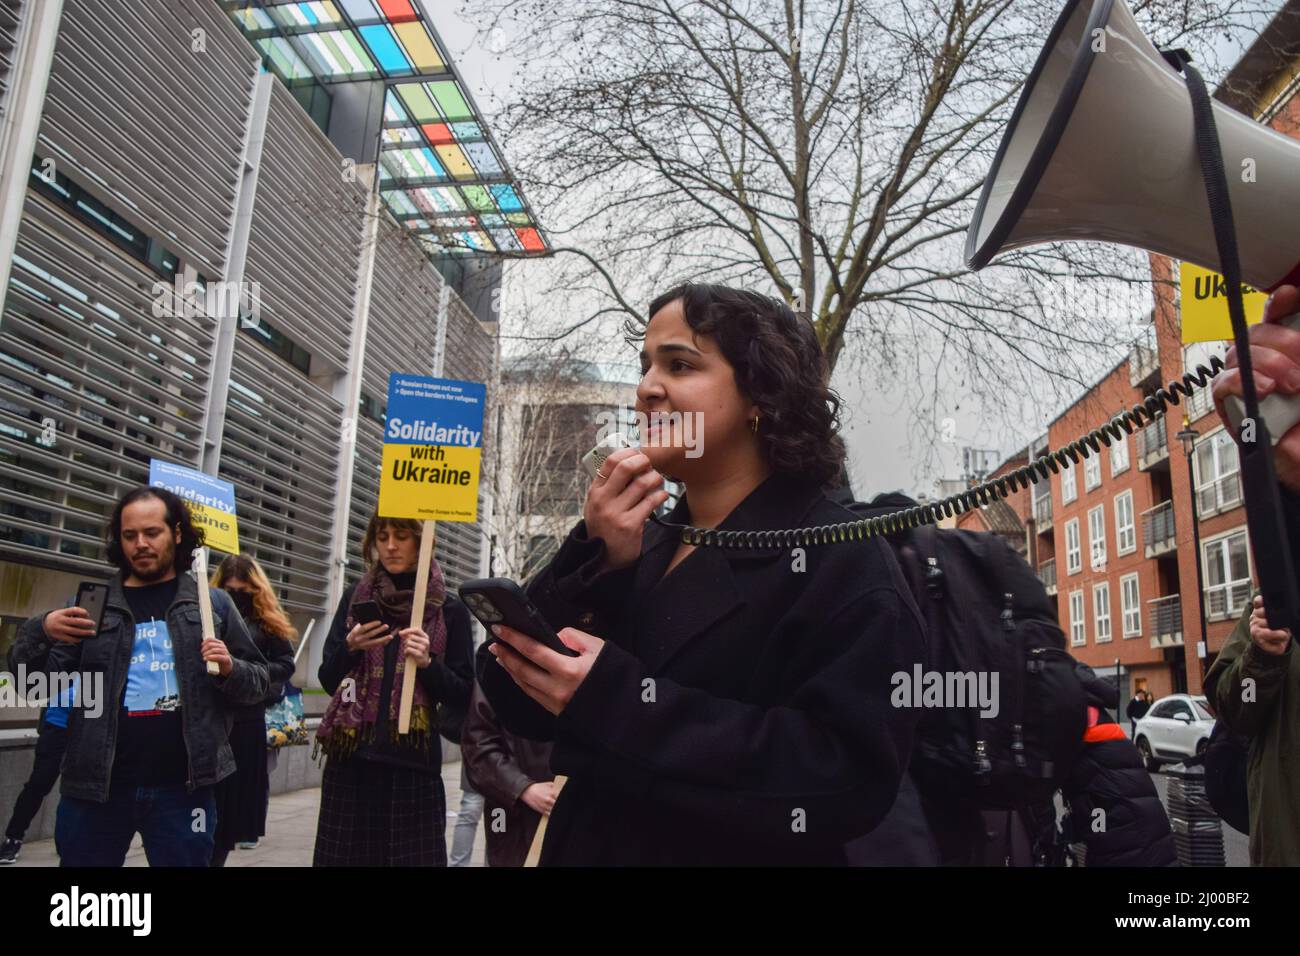
[[[456,810],[460,806],[460,761],[445,763],[442,783],[447,790],[447,852],[451,852],[451,839],[456,826]],[[255,849],[238,847],[226,857],[226,869],[240,866],[311,866],[312,848],[316,845],[316,818],[320,816],[320,787],[295,790],[278,793],[270,799],[266,810],[266,835]],[[471,866],[484,866],[484,827],[482,821],[474,835],[474,852]],[[22,853],[14,866],[57,866],[53,840],[35,840],[22,844]],[[144,847],[139,835],[131,840],[126,853],[127,866],[148,866]],[[4,869],[4,868],[0,868]]]

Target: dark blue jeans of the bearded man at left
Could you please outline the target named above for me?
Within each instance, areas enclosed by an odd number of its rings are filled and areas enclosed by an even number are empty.
[[[216,826],[212,787],[113,784],[104,804],[58,801],[55,849],[61,866],[121,866],[138,832],[150,866],[207,866]]]

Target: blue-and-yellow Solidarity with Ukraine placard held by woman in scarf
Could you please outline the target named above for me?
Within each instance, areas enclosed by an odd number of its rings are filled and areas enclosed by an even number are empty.
[[[482,382],[389,376],[380,514],[436,522],[478,520]]]

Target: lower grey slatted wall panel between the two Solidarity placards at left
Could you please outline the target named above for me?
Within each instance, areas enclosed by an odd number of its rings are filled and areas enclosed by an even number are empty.
[[[239,548],[286,609],[320,614],[343,410],[247,336],[235,343],[221,477],[235,485]]]

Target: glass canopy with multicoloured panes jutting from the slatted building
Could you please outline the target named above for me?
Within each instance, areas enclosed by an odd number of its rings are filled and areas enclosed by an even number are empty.
[[[286,85],[385,85],[380,193],[434,255],[547,241],[420,0],[221,0]]]

